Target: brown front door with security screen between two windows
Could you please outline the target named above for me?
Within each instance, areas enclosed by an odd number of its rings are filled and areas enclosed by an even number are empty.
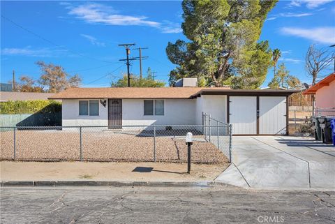
[[[121,128],[122,126],[122,100],[108,99],[108,126]]]

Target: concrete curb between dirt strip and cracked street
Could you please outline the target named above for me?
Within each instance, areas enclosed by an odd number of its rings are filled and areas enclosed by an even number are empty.
[[[214,187],[228,186],[216,181],[1,181],[1,187],[6,186],[151,186],[151,187]]]

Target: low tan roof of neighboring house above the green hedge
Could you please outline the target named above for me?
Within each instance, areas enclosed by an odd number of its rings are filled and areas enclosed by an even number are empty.
[[[0,91],[0,102],[10,100],[47,100],[54,94]]]

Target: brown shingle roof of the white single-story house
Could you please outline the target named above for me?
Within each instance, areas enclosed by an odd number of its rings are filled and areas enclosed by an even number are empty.
[[[49,97],[50,99],[89,99],[89,98],[191,98],[203,89],[229,89],[229,87],[161,87],[161,88],[70,88]]]

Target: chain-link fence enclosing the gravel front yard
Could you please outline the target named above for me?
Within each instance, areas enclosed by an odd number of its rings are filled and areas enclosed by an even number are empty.
[[[0,159],[186,162],[188,132],[193,163],[230,160],[229,126],[221,124],[0,127]]]

